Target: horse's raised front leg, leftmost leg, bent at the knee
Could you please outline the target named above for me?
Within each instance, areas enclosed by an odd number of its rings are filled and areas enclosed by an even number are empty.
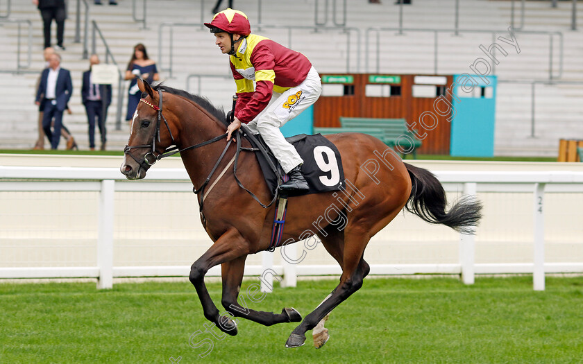
[[[196,288],[198,299],[201,300],[205,318],[216,324],[221,331],[231,336],[237,335],[237,324],[227,316],[219,314],[219,309],[214,305],[208,294],[204,279],[210,268],[239,257],[244,258],[248,254],[248,250],[248,241],[239,234],[237,229],[230,229],[217,239],[205,254],[190,267],[189,279],[194,288]]]

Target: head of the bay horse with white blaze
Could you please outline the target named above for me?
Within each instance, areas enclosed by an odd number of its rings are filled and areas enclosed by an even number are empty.
[[[139,180],[146,177],[146,171],[164,153],[164,150],[175,143],[171,125],[162,116],[162,91],[150,87],[145,80],[138,79],[142,96],[137,104],[130,125],[130,139],[124,149],[124,163],[120,171],[128,180]],[[167,100],[164,100],[166,104]],[[176,133],[176,130],[174,131]]]

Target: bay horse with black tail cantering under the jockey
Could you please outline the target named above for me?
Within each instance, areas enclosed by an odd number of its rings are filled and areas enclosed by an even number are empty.
[[[403,163],[379,139],[360,133],[328,135],[326,138],[341,154],[350,189],[289,197],[282,241],[287,244],[319,236],[342,269],[339,284],[303,320],[292,308],[284,308],[281,313],[248,309],[237,302],[245,260],[248,254],[269,248],[275,206],[262,207],[239,187],[231,166],[237,146],[233,139],[226,140],[227,122],[222,110],[205,98],[160,83],[149,85],[138,80],[137,85],[143,98],[131,121],[121,173],[128,180],[144,178],[151,164],[166,156],[174,145],[180,150],[194,191],[212,183],[212,189],[197,197],[199,204],[204,199],[201,220],[213,243],[192,264],[189,280],[196,288],[205,318],[231,336],[237,334],[233,317],[265,326],[301,322],[285,346],[303,345],[306,331],[316,328],[319,332],[314,329],[313,333],[319,338],[314,338],[314,345],[319,347],[329,337],[323,323],[330,311],[355,293],[369,274],[369,264],[364,261],[367,243],[403,207],[428,223],[461,232],[472,232],[481,218],[480,202],[467,196],[446,211],[446,193],[437,178],[423,168]],[[243,144],[249,145],[247,141]],[[251,188],[258,200],[269,202],[273,196],[254,153],[242,152],[237,158],[241,184]],[[226,315],[219,313],[204,282],[205,273],[219,264],[221,304],[228,311]]]

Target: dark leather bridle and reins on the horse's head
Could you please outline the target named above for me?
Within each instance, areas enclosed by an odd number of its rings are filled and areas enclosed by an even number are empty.
[[[153,164],[155,164],[155,162],[158,162],[162,158],[170,157],[171,155],[175,155],[176,153],[180,153],[180,152],[183,152],[185,150],[200,148],[201,146],[206,146],[208,144],[214,143],[215,141],[219,141],[219,140],[223,139],[224,137],[226,137],[227,133],[225,133],[223,135],[219,135],[218,137],[214,137],[210,140],[203,141],[202,143],[195,144],[194,146],[189,146],[187,148],[179,149],[178,146],[176,146],[176,140],[174,139],[174,135],[172,135],[172,131],[170,130],[170,126],[168,125],[168,121],[166,120],[164,115],[162,115],[162,90],[161,89],[158,89],[158,96],[160,96],[159,97],[160,100],[158,101],[158,106],[154,105],[153,103],[150,103],[145,98],[140,98],[140,102],[145,103],[146,105],[148,105],[149,107],[153,108],[155,111],[158,112],[158,120],[156,121],[156,128],[155,128],[154,133],[152,135],[151,144],[141,144],[139,146],[126,146],[126,148],[124,148],[124,154],[132,157],[132,159],[135,160],[135,162],[137,164],[140,164],[140,166],[142,168],[144,168],[144,170],[147,171],[148,168],[153,166]],[[168,148],[164,149],[164,151],[160,152],[159,150],[156,149],[156,139],[158,139],[158,143],[160,143],[160,124],[162,123],[162,120],[164,120],[164,124],[166,125],[166,128],[168,129],[168,132],[170,134],[170,138],[172,139],[171,145],[174,145],[174,146],[168,147]],[[227,146],[229,144],[230,143],[228,143]],[[144,155],[143,160],[140,161],[139,159],[137,159],[137,157],[135,157],[135,155],[133,155],[131,153],[132,149],[137,149],[137,148],[150,148],[151,150],[148,153],[146,153]],[[157,153],[157,155],[156,155],[156,153]]]

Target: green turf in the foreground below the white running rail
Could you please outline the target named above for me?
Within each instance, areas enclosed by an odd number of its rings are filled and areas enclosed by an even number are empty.
[[[245,286],[256,280],[244,282]],[[276,288],[251,309],[309,313],[336,281]],[[209,284],[220,302],[220,284]],[[0,284],[0,363],[581,363],[583,277],[366,279],[333,311],[319,350],[284,347],[295,324],[263,327],[239,319],[239,335],[205,331],[194,288],[185,283]],[[196,345],[195,345],[196,346]]]

